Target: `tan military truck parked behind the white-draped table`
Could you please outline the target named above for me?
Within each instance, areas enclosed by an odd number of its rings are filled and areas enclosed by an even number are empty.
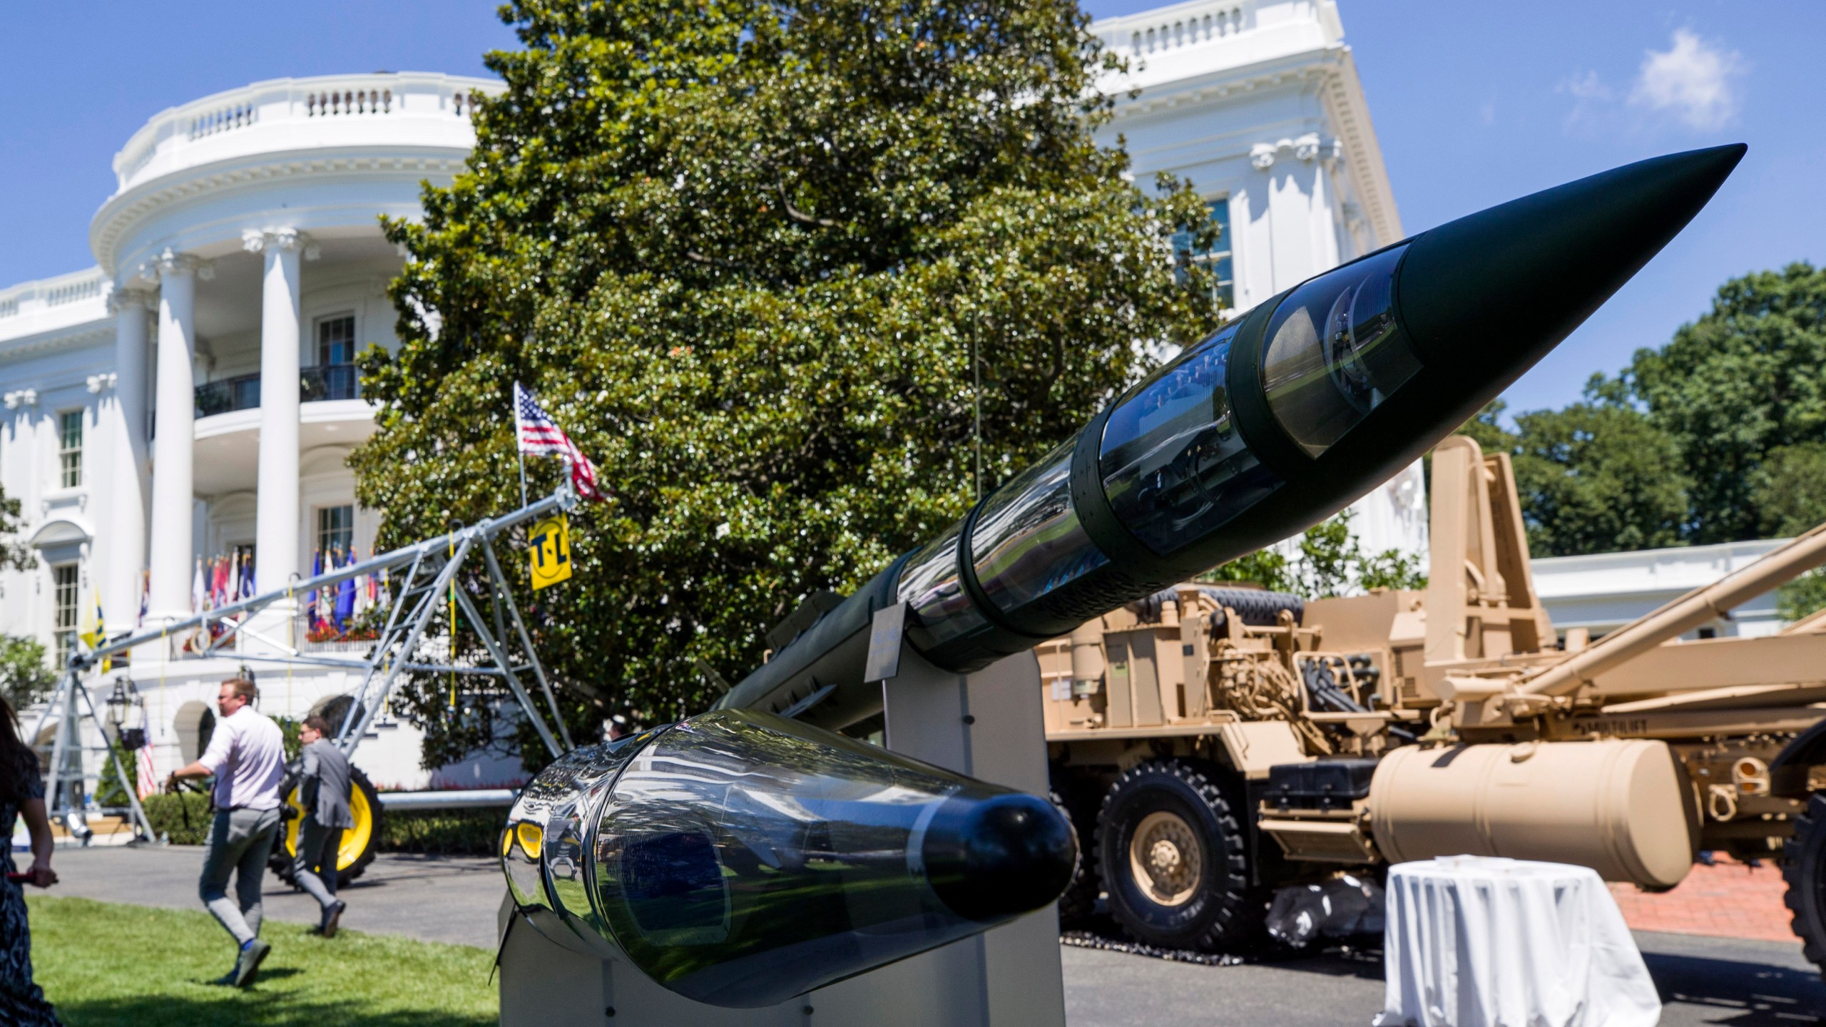
[[[1826,967],[1826,614],[1682,636],[1826,561],[1826,528],[1598,641],[1558,638],[1506,455],[1433,455],[1421,592],[1180,585],[1039,647],[1054,789],[1136,939],[1238,947],[1289,884],[1448,853],[1671,888],[1777,859]]]

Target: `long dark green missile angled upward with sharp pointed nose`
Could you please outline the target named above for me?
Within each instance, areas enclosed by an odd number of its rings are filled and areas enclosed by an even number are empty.
[[[1625,164],[1470,214],[1269,298],[902,556],[719,707],[844,727],[880,709],[871,619],[970,672],[1295,535],[1470,420],[1634,276],[1744,146]]]

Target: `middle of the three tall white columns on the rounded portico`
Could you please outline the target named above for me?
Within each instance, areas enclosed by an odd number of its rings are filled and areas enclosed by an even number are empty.
[[[157,435],[152,446],[152,598],[148,619],[190,616],[192,446],[195,439],[195,296],[197,267],[190,254],[164,250],[159,272]]]

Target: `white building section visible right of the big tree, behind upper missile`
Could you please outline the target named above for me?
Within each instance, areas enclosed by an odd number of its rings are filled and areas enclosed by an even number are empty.
[[[1214,206],[1231,309],[1402,239],[1333,0],[1192,0],[1092,31],[1128,62],[1103,84],[1121,99],[1101,137],[1127,144],[1143,188],[1169,172]],[[1366,552],[1401,550],[1426,566],[1419,462],[1351,514]]]

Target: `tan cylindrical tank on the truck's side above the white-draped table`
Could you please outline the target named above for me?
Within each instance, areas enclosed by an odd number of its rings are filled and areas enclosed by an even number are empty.
[[[1390,863],[1506,855],[1654,888],[1693,866],[1689,808],[1673,751],[1642,738],[1406,746],[1370,782],[1371,831]]]

